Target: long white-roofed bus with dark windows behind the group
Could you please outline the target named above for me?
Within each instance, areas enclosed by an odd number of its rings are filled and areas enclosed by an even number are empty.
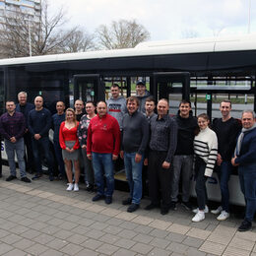
[[[190,99],[194,115],[220,117],[219,103],[228,97],[233,117],[256,109],[256,34],[175,41],[143,42],[135,48],[66,53],[0,60],[0,111],[5,101],[17,101],[21,91],[28,101],[41,95],[52,113],[57,100],[74,106],[104,100],[112,83],[123,96],[135,94],[138,79],[146,81],[156,100],[169,100],[176,114],[182,98]],[[237,174],[230,180],[230,201],[243,205]],[[208,182],[210,199],[220,200],[216,176]]]

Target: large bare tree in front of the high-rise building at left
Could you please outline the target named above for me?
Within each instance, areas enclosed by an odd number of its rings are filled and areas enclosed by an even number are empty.
[[[20,57],[66,52],[63,45],[71,41],[78,28],[63,30],[65,12],[63,9],[49,15],[47,0],[41,1],[40,17],[17,9],[4,17],[0,25],[0,54],[4,57]],[[85,38],[85,36],[84,36]]]

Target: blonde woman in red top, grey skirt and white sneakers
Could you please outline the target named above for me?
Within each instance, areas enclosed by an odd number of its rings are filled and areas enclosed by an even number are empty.
[[[62,157],[66,165],[66,173],[68,177],[68,191],[79,191],[79,141],[77,137],[77,128],[79,122],[76,120],[74,109],[68,108],[66,110],[65,121],[61,123],[59,130],[59,144],[62,149]],[[75,186],[73,186],[72,179],[72,161],[75,165]]]

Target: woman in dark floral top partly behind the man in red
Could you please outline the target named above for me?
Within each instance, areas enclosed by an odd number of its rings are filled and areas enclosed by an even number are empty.
[[[96,116],[96,106],[93,101],[86,103],[87,114],[84,114],[80,120],[78,127],[78,139],[82,148],[85,170],[85,183],[87,184],[87,191],[94,190],[95,175],[92,160],[87,158],[87,131],[92,118]]]

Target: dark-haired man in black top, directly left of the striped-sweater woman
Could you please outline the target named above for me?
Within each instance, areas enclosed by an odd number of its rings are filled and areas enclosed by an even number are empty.
[[[198,127],[197,118],[192,116],[191,102],[183,99],[179,103],[179,110],[175,116],[178,126],[177,148],[173,158],[173,171],[171,180],[171,206],[176,210],[178,201],[179,180],[182,178],[182,202],[187,210],[192,210],[189,202],[190,183],[192,178],[194,160],[194,136]]]

